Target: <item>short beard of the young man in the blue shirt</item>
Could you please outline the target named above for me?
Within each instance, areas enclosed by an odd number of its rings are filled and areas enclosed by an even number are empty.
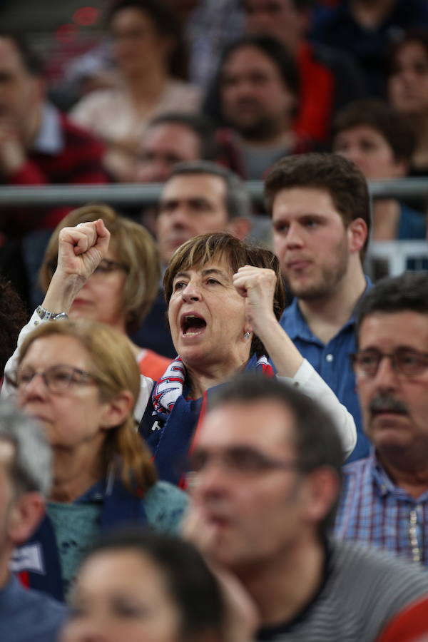
[[[347,250],[346,243],[346,238],[344,236],[333,252],[337,257],[335,264],[321,265],[319,268],[320,275],[315,277],[315,280],[307,285],[302,285],[301,287],[297,285],[297,287],[293,287],[290,280],[288,280],[287,275],[285,275],[287,287],[290,292],[292,292],[292,295],[298,299],[302,299],[303,301],[316,300],[330,296],[345,276],[348,269],[349,251]]]

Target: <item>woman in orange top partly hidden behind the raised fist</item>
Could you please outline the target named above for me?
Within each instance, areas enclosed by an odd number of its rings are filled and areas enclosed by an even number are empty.
[[[93,319],[130,335],[141,326],[158,294],[161,270],[158,250],[142,225],[116,214],[108,205],[86,205],[73,210],[56,227],[46,248],[39,280],[46,292],[56,270],[58,237],[62,228],[102,218],[111,234],[106,257],[73,300],[71,319]],[[141,374],[158,379],[170,359],[129,339]]]

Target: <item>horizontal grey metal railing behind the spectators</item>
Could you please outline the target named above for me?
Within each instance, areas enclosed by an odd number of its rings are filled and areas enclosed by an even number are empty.
[[[249,180],[248,192],[252,198],[263,196],[263,181]],[[161,194],[161,183],[136,183],[115,185],[43,185],[0,186],[2,205],[83,205],[106,202],[111,205],[148,205],[156,203]],[[427,178],[401,178],[399,180],[373,180],[369,182],[372,198],[424,198],[428,196]]]

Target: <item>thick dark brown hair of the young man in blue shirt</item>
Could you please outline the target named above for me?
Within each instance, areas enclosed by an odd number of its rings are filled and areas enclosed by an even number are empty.
[[[367,225],[360,253],[364,258],[370,235],[370,195],[367,180],[354,163],[338,154],[315,152],[282,158],[265,180],[265,205],[270,215],[277,193],[292,188],[326,190],[345,227],[362,218]]]

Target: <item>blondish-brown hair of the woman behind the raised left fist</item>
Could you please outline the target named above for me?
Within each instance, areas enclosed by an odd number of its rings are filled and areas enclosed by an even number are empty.
[[[118,260],[126,266],[128,275],[123,287],[123,306],[126,312],[126,331],[136,332],[151,309],[159,290],[161,268],[155,241],[143,228],[128,218],[118,215],[108,205],[94,203],[73,210],[59,223],[49,239],[39,282],[46,292],[56,270],[58,237],[62,228],[102,218],[111,233],[111,248]]]

